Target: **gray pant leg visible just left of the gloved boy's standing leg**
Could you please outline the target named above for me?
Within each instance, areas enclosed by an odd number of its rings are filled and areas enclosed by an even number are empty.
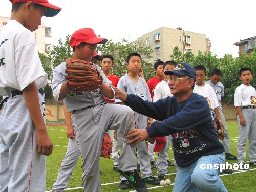
[[[77,141],[75,139],[69,139],[66,155],[61,162],[58,177],[52,186],[52,190],[63,192],[67,188],[79,157],[80,151]]]

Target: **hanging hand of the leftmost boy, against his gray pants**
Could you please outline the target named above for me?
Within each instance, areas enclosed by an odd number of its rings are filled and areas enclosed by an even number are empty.
[[[38,146],[38,153],[42,155],[52,154],[52,141],[46,130],[37,130],[36,142]]]

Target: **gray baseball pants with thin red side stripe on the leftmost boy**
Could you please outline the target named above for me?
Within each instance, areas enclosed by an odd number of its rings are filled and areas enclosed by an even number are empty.
[[[38,97],[43,114],[44,98]],[[9,95],[0,116],[0,139],[0,191],[44,192],[46,156],[38,153],[36,128],[23,95]]]

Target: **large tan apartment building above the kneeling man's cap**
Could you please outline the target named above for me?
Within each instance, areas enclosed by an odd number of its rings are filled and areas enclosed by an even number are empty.
[[[191,51],[195,56],[198,52],[210,52],[211,41],[205,34],[184,31],[181,28],[172,29],[160,27],[154,31],[144,34],[136,41],[144,41],[153,49],[151,54],[153,58],[143,58],[146,61],[154,63],[155,61],[170,60],[169,56],[173,54],[175,46],[179,47],[182,54]],[[134,42],[136,42],[134,41]],[[133,42],[133,43],[134,43]]]

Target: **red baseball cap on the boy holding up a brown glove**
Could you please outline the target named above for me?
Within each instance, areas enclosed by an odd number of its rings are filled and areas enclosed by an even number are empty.
[[[79,45],[81,42],[87,42],[88,44],[105,44],[108,39],[97,37],[91,28],[78,29],[70,37],[71,48]]]

